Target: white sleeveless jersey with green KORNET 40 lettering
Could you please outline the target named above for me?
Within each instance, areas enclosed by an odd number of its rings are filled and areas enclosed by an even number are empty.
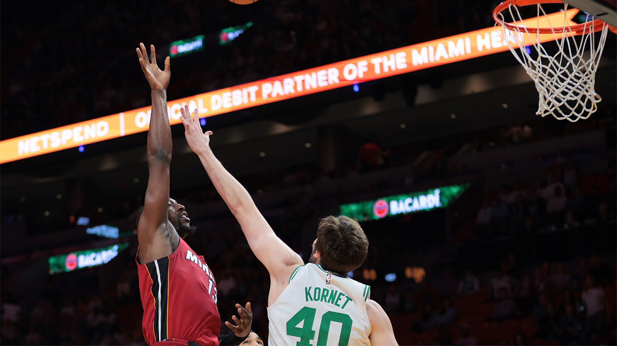
[[[308,263],[268,307],[268,345],[370,345],[370,286]]]

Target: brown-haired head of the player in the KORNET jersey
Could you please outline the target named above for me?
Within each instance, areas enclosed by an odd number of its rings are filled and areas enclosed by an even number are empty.
[[[346,274],[364,263],[368,239],[356,221],[347,216],[321,219],[309,262],[338,274]]]

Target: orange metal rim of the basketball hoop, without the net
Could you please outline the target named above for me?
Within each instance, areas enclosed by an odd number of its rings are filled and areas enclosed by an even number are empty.
[[[515,25],[512,23],[506,23],[502,19],[499,18],[499,14],[503,12],[503,10],[510,7],[511,5],[531,6],[531,5],[537,5],[537,4],[563,4],[563,3],[564,2],[561,0],[506,0],[506,1],[503,1],[501,4],[499,4],[499,6],[495,7],[495,9],[493,10],[493,19],[498,24],[512,31],[527,31],[529,33],[534,33],[534,34],[537,34],[537,33],[552,34],[552,33],[564,33],[564,32],[574,31],[577,34],[582,35],[584,33],[591,33],[592,30],[594,32],[602,30],[604,22],[602,22],[602,20],[600,19],[596,19],[592,22],[571,25],[568,28],[566,27],[561,27],[561,28],[529,28],[529,27],[526,27],[523,29],[519,27],[518,25]]]

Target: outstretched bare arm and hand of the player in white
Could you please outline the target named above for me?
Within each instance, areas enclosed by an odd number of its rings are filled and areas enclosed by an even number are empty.
[[[199,160],[204,165],[218,194],[223,197],[233,215],[236,216],[251,250],[267,268],[273,280],[272,283],[276,281],[287,284],[292,271],[297,266],[304,265],[302,258],[276,236],[255,206],[249,192],[214,156],[210,149],[212,131],[202,133],[197,110],[195,110],[194,118],[191,118],[188,106],[181,109],[181,113],[186,141],[199,155]]]

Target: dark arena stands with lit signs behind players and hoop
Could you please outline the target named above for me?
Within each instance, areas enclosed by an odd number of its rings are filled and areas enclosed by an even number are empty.
[[[140,42],[171,56],[170,197],[222,323],[251,302],[267,340],[270,278],[186,144],[182,102],[303,260],[320,218],[360,221],[369,255],[349,276],[400,345],[617,344],[616,36],[597,112],[540,117],[523,67],[474,33],[498,3],[2,2],[0,344],[146,344]]]

